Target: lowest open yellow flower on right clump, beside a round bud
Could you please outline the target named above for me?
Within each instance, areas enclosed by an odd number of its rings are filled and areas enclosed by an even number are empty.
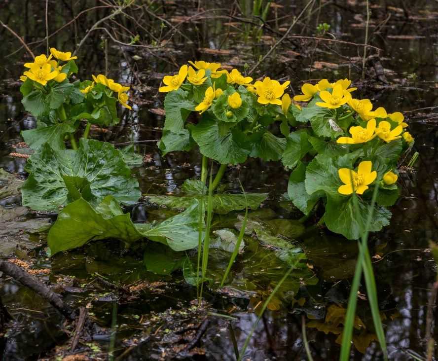
[[[377,172],[372,171],[372,163],[365,160],[359,164],[358,172],[341,168],[338,170],[339,178],[344,183],[338,188],[338,192],[344,195],[363,194],[368,189],[368,184],[371,184],[377,177]]]

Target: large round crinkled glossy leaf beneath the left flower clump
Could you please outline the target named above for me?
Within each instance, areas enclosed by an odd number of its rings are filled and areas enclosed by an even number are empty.
[[[123,156],[109,143],[81,139],[78,150],[59,151],[44,144],[28,159],[25,169],[30,176],[22,187],[23,205],[38,211],[66,204],[69,189],[63,176],[86,179],[93,204],[107,195],[133,204],[141,195]]]

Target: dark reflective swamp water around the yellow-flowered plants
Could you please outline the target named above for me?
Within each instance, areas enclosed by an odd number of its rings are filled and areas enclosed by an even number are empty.
[[[100,1],[49,3],[50,32],[63,26],[83,9],[105,4]],[[163,5],[166,19],[170,21],[170,25],[166,24],[164,34],[171,25],[178,25],[178,16],[196,13],[197,1],[178,3],[182,6],[175,3]],[[284,31],[282,28],[291,24],[293,15],[298,15],[305,4],[301,1],[280,3],[284,7],[278,9],[277,16],[273,11],[270,12],[268,24],[275,32],[281,33]],[[330,25],[329,32],[336,39],[364,42],[365,2],[324,2],[320,10],[317,3],[310,15],[298,22],[291,34],[315,35],[317,22],[326,22]],[[0,19],[24,36],[26,42],[32,43],[45,36],[44,5],[45,1],[2,1]],[[164,117],[151,111],[163,108],[163,96],[157,94],[162,75],[173,72],[175,63],[182,64],[195,59],[214,60],[239,68],[247,63],[251,68],[259,55],[268,51],[272,41],[269,36],[273,33],[267,30],[259,40],[253,41],[250,36],[245,41],[242,24],[225,24],[237,22],[236,19],[223,17],[224,14],[234,14],[231,1],[208,4],[202,1],[201,5],[206,10],[203,16],[179,24],[179,32],[175,32],[171,41],[159,50],[152,50],[154,56],[141,47],[123,47],[123,55],[120,46],[109,41],[109,74],[120,82],[136,83],[134,103],[137,105],[132,112],[123,114],[119,126],[113,127],[108,133],[93,131],[91,136],[114,144],[141,142],[136,144],[136,151],[146,155],[149,162],[137,168],[135,175],[144,193],[173,192],[183,180],[200,175],[200,156],[196,152],[171,153],[162,157],[155,143],[150,142],[161,137],[161,127],[164,124]],[[335,80],[349,76],[359,88],[358,97],[359,94],[362,98],[369,97],[373,104],[384,106],[388,112],[402,111],[405,114],[410,132],[416,139],[414,148],[420,157],[415,171],[401,177],[402,197],[391,209],[391,225],[372,234],[369,243],[371,255],[379,255],[373,258],[374,272],[390,359],[412,360],[416,356],[423,360],[426,355],[427,305],[437,273],[428,248],[429,241],[437,242],[438,226],[438,116],[434,114],[438,108],[431,108],[438,107],[438,3],[404,1],[404,5],[403,1],[370,3],[370,43],[381,51],[380,63],[377,66],[368,64],[365,80],[361,80],[361,60],[358,61],[363,54],[362,47],[334,41],[316,43],[304,37],[284,42],[269,60],[261,64],[256,76],[268,74],[273,78],[290,79],[292,90],[296,93],[304,80],[324,77]],[[213,11],[215,8],[227,10]],[[159,11],[161,14],[162,9]],[[108,8],[87,12],[80,21],[50,38],[50,45],[73,50],[73,44],[80,41],[85,31],[109,13]],[[123,21],[124,26],[134,26],[129,18]],[[154,30],[155,37],[160,34],[156,30],[160,22],[152,17],[147,23],[147,29]],[[101,35],[93,32],[78,53],[77,63],[82,78],[105,71]],[[144,36],[146,39],[147,35]],[[23,50],[11,55],[20,44],[4,28],[0,28],[0,38],[0,167],[24,177],[25,160],[11,157],[9,153],[13,150],[13,144],[22,141],[19,132],[36,126],[35,119],[21,107],[19,83],[16,81],[22,72],[22,64],[29,59]],[[45,42],[31,47],[36,54],[42,53],[45,51]],[[212,55],[205,53],[203,48],[220,48],[230,52]],[[370,49],[369,54],[376,54],[376,50]],[[376,69],[380,69],[379,66],[384,69],[387,82],[378,80]],[[273,218],[299,217],[285,211],[278,202],[287,189],[288,181],[288,173],[279,162],[266,163],[250,159],[239,168],[230,168],[223,183],[228,189],[237,190],[238,180],[247,191],[269,192],[267,206],[275,212]],[[149,218],[162,217],[162,213],[154,213],[144,203],[134,207],[132,215],[134,219],[142,220],[148,212]],[[311,220],[308,226],[312,226]],[[284,297],[278,300],[278,307],[271,307],[277,310],[265,313],[247,351],[247,356],[253,360],[305,359],[301,315],[306,315],[306,324],[315,318],[323,322],[330,307],[346,307],[357,257],[355,242],[318,228],[309,229],[298,241],[308,254],[316,280],[307,282],[307,285],[302,284],[299,290],[297,287],[293,299],[304,299],[302,306],[293,305],[290,297]],[[187,326],[187,319],[199,319],[201,322],[206,316],[207,311],[198,312],[190,308],[190,301],[196,298],[196,289],[184,284],[181,273],[163,277],[146,272],[142,265],[142,252],[131,250],[121,253],[116,242],[108,245],[99,242],[84,250],[53,258],[47,258],[43,247],[33,253],[38,267],[51,268],[46,280],[61,285],[58,287],[65,299],[75,307],[86,306],[92,318],[102,327],[90,331],[90,334],[94,334],[94,340],[90,339],[88,344],[80,345],[79,351],[88,350],[87,355],[91,359],[105,358],[102,355],[111,348],[110,329],[116,321],[115,355],[125,360],[169,357],[170,354],[163,350],[182,342],[181,339],[172,338],[175,338],[172,327]],[[148,246],[140,245],[140,251],[142,247]],[[240,260],[242,264],[244,259],[245,256]],[[118,300],[116,291],[96,285],[96,273],[122,285],[146,280],[148,287],[137,298]],[[231,325],[239,347],[242,347],[257,317],[256,313],[251,312],[252,309],[270,290],[272,285],[260,282],[257,284],[257,294],[251,299],[239,293],[224,296],[214,290],[207,291],[206,300],[212,307],[210,311],[236,318],[231,321]],[[361,287],[361,292],[365,293],[365,287]],[[54,354],[56,345],[63,345],[68,340],[61,317],[33,292],[10,279],[3,279],[0,294],[15,319],[14,327],[4,339],[5,360],[48,357]],[[174,313],[171,315],[169,310]],[[434,306],[432,336],[435,339],[438,338],[438,327],[435,327],[437,315]],[[357,335],[365,340],[373,333],[365,296],[359,299],[358,316],[366,329],[357,332]],[[209,319],[210,324],[200,344],[206,355],[193,358],[233,360],[228,327],[230,319],[218,316],[210,316]],[[315,360],[338,358],[340,347],[335,342],[338,334],[326,334],[313,327],[307,327],[306,333]],[[87,349],[91,346],[92,352]],[[353,360],[381,359],[381,352],[375,342],[366,351],[363,350],[365,354],[353,349]]]

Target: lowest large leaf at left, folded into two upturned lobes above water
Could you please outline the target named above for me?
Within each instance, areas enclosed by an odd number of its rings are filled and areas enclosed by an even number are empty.
[[[159,223],[134,224],[111,196],[93,208],[83,198],[68,204],[49,231],[52,254],[81,247],[90,240],[114,238],[132,243],[143,237],[185,251],[198,245],[198,203],[181,214]]]

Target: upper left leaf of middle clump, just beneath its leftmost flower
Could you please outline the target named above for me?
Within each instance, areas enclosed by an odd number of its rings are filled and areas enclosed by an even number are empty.
[[[180,132],[184,128],[184,121],[190,111],[194,111],[196,104],[188,99],[188,93],[182,89],[167,93],[164,98],[164,110],[166,119],[164,130],[174,133]]]

